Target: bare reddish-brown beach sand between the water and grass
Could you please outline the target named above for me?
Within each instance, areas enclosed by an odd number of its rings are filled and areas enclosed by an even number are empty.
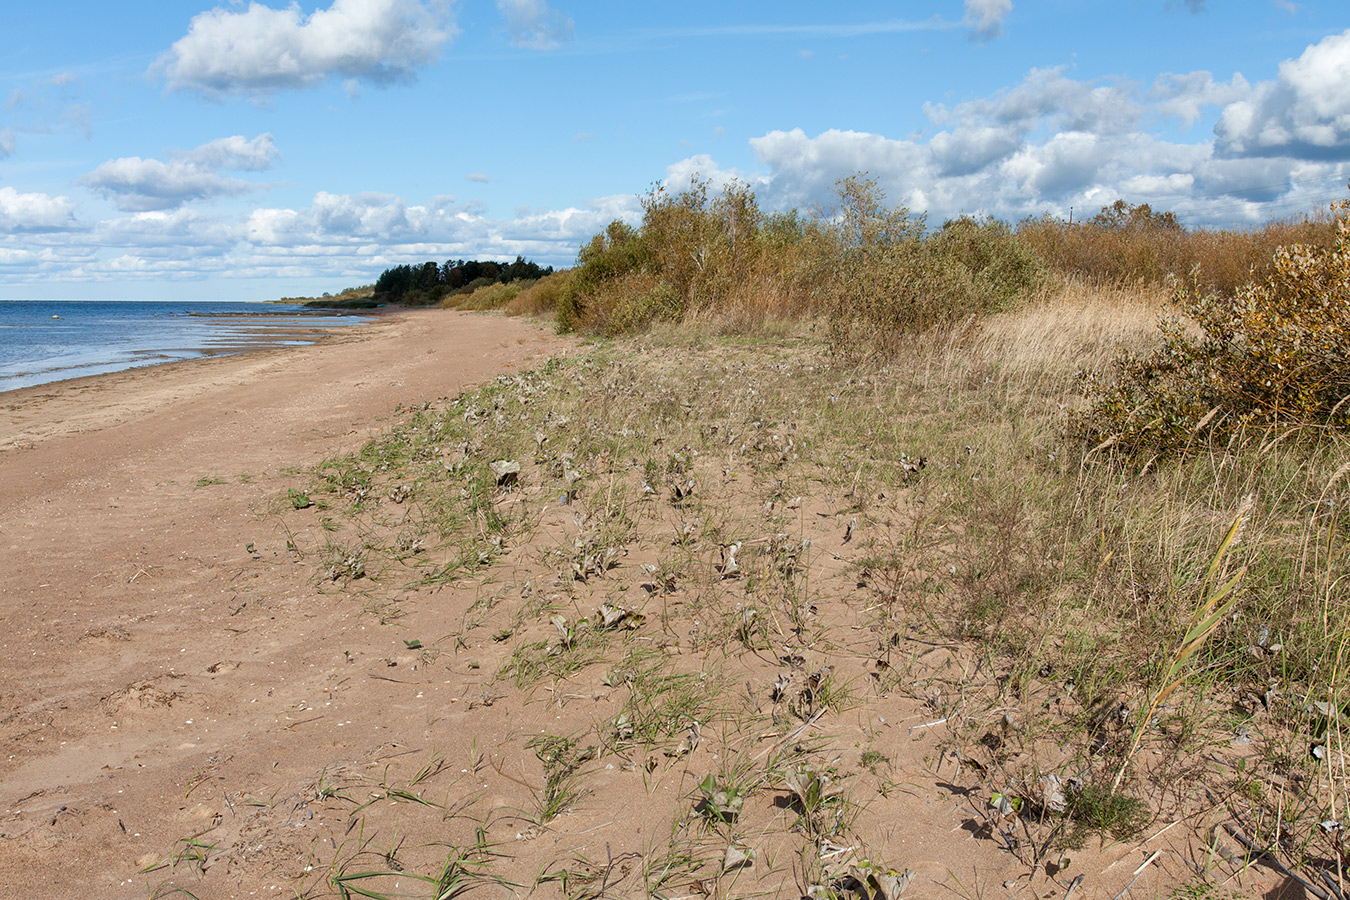
[[[396,312],[0,394],[0,895],[144,897],[167,872],[140,869],[239,820],[221,785],[397,745],[389,685],[343,668],[375,637],[288,564],[269,505],[396,406],[567,349],[518,320]],[[371,721],[325,719],[339,690]],[[256,854],[228,881],[266,892],[286,847],[234,838]]]

